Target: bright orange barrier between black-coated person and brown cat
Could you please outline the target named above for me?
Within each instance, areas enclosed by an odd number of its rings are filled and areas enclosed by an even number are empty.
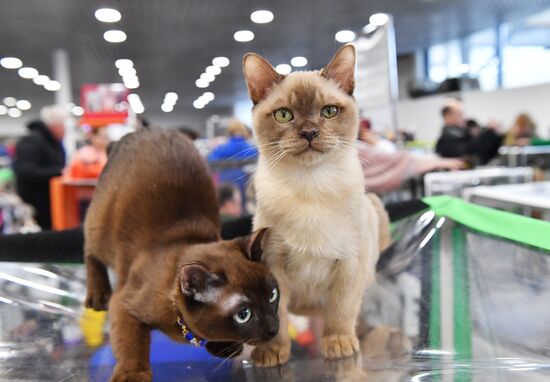
[[[75,228],[82,224],[79,195],[92,193],[96,184],[96,179],[66,179],[60,176],[50,180],[53,230]]]

